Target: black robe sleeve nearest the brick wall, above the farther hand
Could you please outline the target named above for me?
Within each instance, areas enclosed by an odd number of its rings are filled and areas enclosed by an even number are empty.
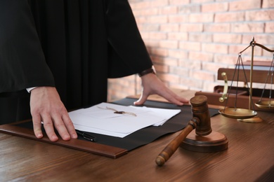
[[[127,0],[106,0],[110,78],[151,68],[152,61]]]

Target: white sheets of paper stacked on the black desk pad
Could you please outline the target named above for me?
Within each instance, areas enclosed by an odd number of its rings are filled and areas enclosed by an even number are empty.
[[[143,127],[163,125],[180,112],[180,109],[152,109],[101,103],[87,109],[72,111],[69,115],[77,130],[126,137]]]

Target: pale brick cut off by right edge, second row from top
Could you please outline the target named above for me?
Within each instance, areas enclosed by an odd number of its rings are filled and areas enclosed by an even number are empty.
[[[268,21],[274,20],[274,9],[252,10],[245,13],[247,21]]]

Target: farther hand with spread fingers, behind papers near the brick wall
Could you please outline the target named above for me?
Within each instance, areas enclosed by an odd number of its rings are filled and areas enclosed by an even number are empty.
[[[148,99],[150,94],[159,94],[159,96],[164,97],[169,102],[182,106],[184,103],[188,103],[189,100],[183,97],[179,97],[177,94],[169,90],[164,83],[157,78],[154,73],[148,73],[141,77],[143,91],[140,99],[134,102],[135,105],[142,105]]]

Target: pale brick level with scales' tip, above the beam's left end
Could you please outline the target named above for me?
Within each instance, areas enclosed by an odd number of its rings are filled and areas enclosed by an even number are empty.
[[[214,34],[213,41],[216,43],[242,43],[241,34]]]

